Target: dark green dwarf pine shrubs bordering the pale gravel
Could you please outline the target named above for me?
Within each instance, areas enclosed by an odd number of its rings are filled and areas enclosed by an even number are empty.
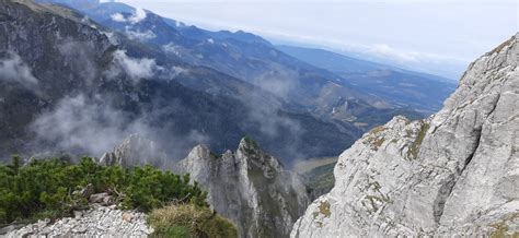
[[[151,166],[101,166],[90,157],[79,164],[60,159],[34,160],[21,166],[14,156],[0,165],[0,224],[13,221],[70,215],[85,209],[84,188],[107,192],[122,209],[149,212],[171,202],[206,207],[207,193],[189,176],[161,171]]]

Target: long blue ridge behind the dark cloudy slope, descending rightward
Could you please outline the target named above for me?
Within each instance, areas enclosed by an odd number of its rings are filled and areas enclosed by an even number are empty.
[[[289,110],[310,112],[323,119],[366,124],[364,121],[355,121],[361,120],[359,117],[332,115],[331,105],[336,105],[337,100],[359,99],[371,107],[372,115],[377,115],[379,109],[395,107],[399,112],[416,115],[412,109],[391,105],[377,95],[366,95],[346,81],[338,80],[338,75],[290,57],[250,33],[210,32],[114,2],[77,9],[108,28],[162,49],[170,57],[188,64],[211,68],[251,83],[286,102],[285,108]],[[196,83],[191,86],[196,86]],[[392,114],[394,115],[396,111]],[[382,123],[390,118],[384,118]],[[362,127],[361,130],[370,127]]]

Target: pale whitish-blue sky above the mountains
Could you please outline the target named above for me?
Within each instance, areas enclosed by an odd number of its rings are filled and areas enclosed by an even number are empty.
[[[120,0],[186,24],[243,29],[453,80],[518,32],[518,0]]]

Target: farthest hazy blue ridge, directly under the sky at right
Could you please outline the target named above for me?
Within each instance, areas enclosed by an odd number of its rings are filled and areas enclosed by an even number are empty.
[[[425,114],[441,109],[454,90],[453,81],[395,67],[355,59],[323,49],[277,46],[292,57],[341,75],[359,91],[377,95],[393,105],[415,108]]]

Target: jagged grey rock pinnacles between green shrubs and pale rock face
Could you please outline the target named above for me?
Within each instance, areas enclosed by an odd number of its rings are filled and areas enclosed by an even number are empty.
[[[309,204],[299,177],[251,140],[221,156],[196,146],[178,169],[208,190],[209,204],[238,225],[241,237],[288,237]]]

